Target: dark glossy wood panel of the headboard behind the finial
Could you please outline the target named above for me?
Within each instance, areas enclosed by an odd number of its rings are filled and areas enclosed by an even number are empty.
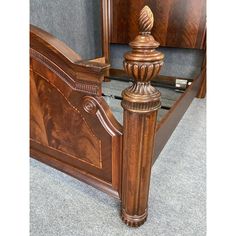
[[[138,14],[148,5],[154,14],[152,35],[166,47],[204,47],[205,0],[111,0],[111,43],[129,43],[139,33]]]

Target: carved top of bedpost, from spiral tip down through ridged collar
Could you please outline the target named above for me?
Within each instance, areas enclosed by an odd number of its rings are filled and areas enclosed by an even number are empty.
[[[155,50],[159,43],[150,35],[153,14],[145,6],[139,17],[139,35],[130,43],[123,62],[126,73],[134,78],[133,85],[122,92],[122,106],[133,112],[151,112],[160,107],[160,92],[151,86],[151,79],[159,74],[164,54]]]

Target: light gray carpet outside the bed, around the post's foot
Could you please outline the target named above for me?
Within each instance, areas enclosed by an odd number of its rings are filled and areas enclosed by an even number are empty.
[[[121,222],[117,200],[31,160],[31,235],[206,235],[205,109],[193,101],[153,166],[149,217],[137,229]]]

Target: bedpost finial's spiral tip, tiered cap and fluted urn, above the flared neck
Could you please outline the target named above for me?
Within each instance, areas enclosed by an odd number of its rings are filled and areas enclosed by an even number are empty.
[[[145,6],[139,17],[140,34],[129,44],[132,51],[124,55],[124,69],[136,82],[148,83],[163,64],[164,55],[155,50],[159,43],[151,35],[153,23],[152,11]]]

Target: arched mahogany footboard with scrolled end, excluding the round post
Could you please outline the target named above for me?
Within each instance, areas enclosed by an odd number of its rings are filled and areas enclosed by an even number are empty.
[[[108,68],[31,26],[31,156],[118,197],[122,128],[102,97]]]

